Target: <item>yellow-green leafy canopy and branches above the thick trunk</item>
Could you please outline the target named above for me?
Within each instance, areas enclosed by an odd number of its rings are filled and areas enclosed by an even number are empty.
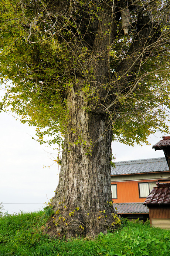
[[[146,142],[167,131],[169,1],[2,0],[0,11],[2,108],[36,125],[41,143],[44,134],[55,135],[49,143],[67,134],[72,89],[87,111],[110,115],[113,140]],[[99,60],[108,78],[95,76]]]

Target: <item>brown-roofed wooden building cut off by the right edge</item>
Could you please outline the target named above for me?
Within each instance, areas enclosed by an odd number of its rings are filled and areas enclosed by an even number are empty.
[[[153,145],[153,148],[164,151],[170,170],[170,136],[163,137],[163,140]],[[170,229],[170,183],[164,183],[165,181],[170,181],[170,179],[159,180],[144,204],[149,208],[151,226]]]

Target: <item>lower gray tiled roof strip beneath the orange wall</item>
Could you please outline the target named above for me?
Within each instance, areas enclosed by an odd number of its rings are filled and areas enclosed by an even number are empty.
[[[118,214],[125,213],[149,213],[149,209],[143,203],[119,203],[114,204],[113,207],[117,208]]]

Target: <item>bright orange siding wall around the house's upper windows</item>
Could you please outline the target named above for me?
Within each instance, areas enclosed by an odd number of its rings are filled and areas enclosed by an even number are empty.
[[[113,199],[114,203],[139,203],[144,202],[145,198],[139,198],[138,183],[140,182],[152,182],[156,180],[138,180],[138,181],[120,181],[111,182],[111,184],[117,184],[118,199]]]

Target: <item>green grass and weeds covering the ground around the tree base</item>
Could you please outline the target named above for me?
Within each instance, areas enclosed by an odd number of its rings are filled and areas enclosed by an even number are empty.
[[[45,209],[1,217],[0,256],[170,255],[170,231],[129,221],[115,233],[101,233],[95,240],[50,239],[43,234],[50,213]]]

